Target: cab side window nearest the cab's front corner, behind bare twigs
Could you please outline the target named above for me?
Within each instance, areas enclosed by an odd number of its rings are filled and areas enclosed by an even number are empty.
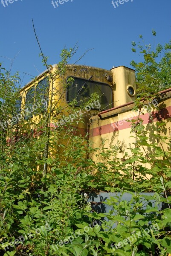
[[[35,104],[39,106],[39,110],[45,111],[48,102],[49,79],[45,78],[38,82],[35,94]]]

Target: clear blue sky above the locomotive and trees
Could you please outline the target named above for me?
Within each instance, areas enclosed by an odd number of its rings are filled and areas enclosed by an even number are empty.
[[[156,46],[171,40],[171,0],[120,0],[118,7],[111,0],[68,0],[55,8],[51,0],[0,0],[0,62],[12,73],[19,71],[22,86],[30,81],[28,73],[37,76],[45,67],[32,27],[35,29],[49,64],[60,61],[61,49],[78,42],[75,62],[88,49],[78,64],[101,67],[130,66],[130,61],[141,61],[131,51],[131,41]],[[115,2],[115,0],[114,0]],[[5,7],[4,7],[5,6]],[[152,36],[151,30],[157,32]],[[19,52],[19,53],[18,53]],[[17,54],[18,53],[18,54]],[[5,58],[4,58],[5,57]]]

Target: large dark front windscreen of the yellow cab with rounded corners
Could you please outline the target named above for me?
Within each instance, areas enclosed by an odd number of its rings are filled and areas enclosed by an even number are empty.
[[[109,109],[113,107],[112,89],[110,85],[81,78],[74,78],[74,82],[68,88],[67,101],[71,102],[76,99],[76,106],[80,106],[88,102],[92,93],[95,92],[99,95],[101,105],[99,109]]]

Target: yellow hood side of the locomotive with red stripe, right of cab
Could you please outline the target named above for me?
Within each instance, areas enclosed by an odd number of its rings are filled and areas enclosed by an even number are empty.
[[[159,107],[159,110],[156,109]],[[111,149],[113,145],[119,145],[119,158],[123,158],[125,152],[129,152],[131,144],[135,143],[135,133],[131,132],[131,119],[136,119],[138,116],[143,120],[145,131],[148,132],[149,142],[153,141],[151,134],[155,133],[152,130],[151,122],[158,120],[165,121],[165,127],[162,129],[161,135],[170,137],[171,135],[171,91],[161,93],[160,99],[153,99],[151,102],[145,102],[143,114],[132,111],[133,104],[121,106],[106,113],[92,116],[90,119],[90,142],[93,148],[99,148],[96,154],[100,154],[102,147]],[[148,113],[147,108],[151,109]],[[105,111],[104,111],[105,112]],[[103,141],[103,143],[102,143]],[[163,145],[167,151],[167,145]],[[92,158],[95,162],[103,161],[102,157],[97,157],[93,154]],[[146,166],[148,167],[148,165]]]

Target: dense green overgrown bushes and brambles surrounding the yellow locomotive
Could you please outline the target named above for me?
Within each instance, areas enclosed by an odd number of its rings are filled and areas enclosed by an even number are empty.
[[[159,62],[156,58],[162,53],[162,46],[157,46],[156,52],[139,48],[144,62],[133,63],[139,92],[143,92],[145,100],[154,99],[158,89],[171,87],[171,44],[165,45],[167,52]],[[47,58],[41,53],[49,69],[46,79],[52,85],[50,95],[54,93],[53,81],[64,75],[74,52],[75,49],[62,51],[56,73],[50,71]],[[64,84],[64,91],[70,82]],[[18,83],[17,74],[11,76],[1,67],[3,124],[15,113]],[[58,99],[63,97],[64,92],[56,93]],[[97,99],[96,95],[93,97]],[[68,113],[74,111],[73,105],[67,108]],[[139,116],[143,113],[143,102],[139,99],[135,109]],[[46,109],[36,111],[36,122],[21,119],[13,126],[0,126],[0,255],[168,256],[171,137],[165,135],[168,128],[160,119],[159,109],[157,122],[149,109],[148,127],[142,125],[139,117],[132,121],[135,143],[130,145],[129,153],[119,159],[119,145],[104,148],[101,152],[104,161],[100,163],[91,160],[93,149],[91,145],[87,147],[87,137],[75,135],[74,125],[51,127],[52,120],[63,115],[61,107],[54,105],[53,97]],[[87,202],[90,191],[116,193],[105,202],[111,207],[109,213],[92,211],[91,203]],[[131,199],[122,201],[126,192]],[[165,209],[159,209],[162,204]]]

